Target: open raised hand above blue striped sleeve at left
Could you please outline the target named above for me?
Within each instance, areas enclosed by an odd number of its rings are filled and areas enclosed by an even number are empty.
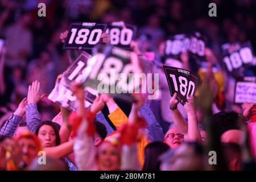
[[[37,104],[46,94],[40,95],[40,82],[33,81],[32,85],[28,86],[27,103]]]

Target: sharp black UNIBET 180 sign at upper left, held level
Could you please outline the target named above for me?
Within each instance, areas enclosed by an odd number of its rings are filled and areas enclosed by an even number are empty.
[[[64,43],[64,49],[92,49],[98,42],[106,24],[100,23],[72,23],[67,39]]]

